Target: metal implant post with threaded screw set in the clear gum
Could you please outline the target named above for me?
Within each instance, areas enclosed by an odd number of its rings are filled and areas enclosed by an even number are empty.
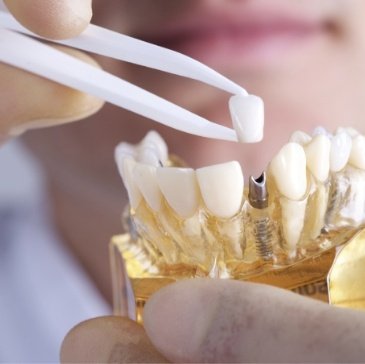
[[[273,258],[273,223],[270,217],[269,194],[267,190],[266,173],[255,179],[250,177],[248,201],[251,207],[251,221],[256,253],[264,261]]]

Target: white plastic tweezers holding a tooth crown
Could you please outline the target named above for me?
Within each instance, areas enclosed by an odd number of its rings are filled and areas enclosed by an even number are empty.
[[[0,11],[0,62],[91,94],[177,130],[237,141],[233,129],[211,122],[34,38],[44,39],[21,26],[11,14]],[[76,38],[51,41],[195,79],[231,94],[247,95],[241,86],[188,56],[96,25],[89,25]]]

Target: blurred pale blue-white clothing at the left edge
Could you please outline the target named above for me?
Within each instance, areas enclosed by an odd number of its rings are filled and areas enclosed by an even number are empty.
[[[0,362],[58,362],[67,331],[111,309],[52,229],[27,153],[0,148]]]

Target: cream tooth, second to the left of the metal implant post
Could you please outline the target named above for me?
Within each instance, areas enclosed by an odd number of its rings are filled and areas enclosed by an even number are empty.
[[[194,215],[199,203],[199,188],[191,168],[159,167],[157,183],[166,201],[182,217]]]

